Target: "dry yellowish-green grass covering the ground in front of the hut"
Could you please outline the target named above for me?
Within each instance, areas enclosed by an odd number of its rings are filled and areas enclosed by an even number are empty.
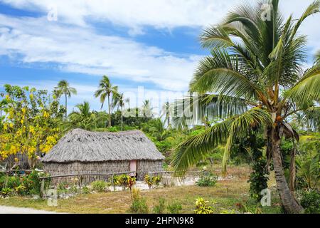
[[[182,213],[193,213],[194,204],[197,197],[203,197],[209,201],[216,213],[224,210],[236,210],[237,203],[243,204],[250,199],[247,183],[250,168],[246,166],[230,167],[229,174],[235,178],[233,180],[222,180],[214,187],[166,187],[154,190],[142,191],[142,197],[146,198],[148,206],[153,207],[158,204],[159,198],[163,197],[166,202],[177,200],[182,204]],[[270,182],[270,186],[273,185]],[[263,207],[264,213],[279,213],[280,207],[277,205],[279,199],[275,197],[272,200],[272,207]],[[50,207],[46,200],[32,199],[30,197],[9,197],[0,199],[1,205],[14,207],[31,207],[34,209],[45,209],[55,212],[68,213],[128,213],[131,204],[129,192],[103,192],[87,195],[78,195],[70,199],[58,199],[57,207]],[[255,204],[250,204],[255,208]],[[151,211],[151,210],[150,210]]]

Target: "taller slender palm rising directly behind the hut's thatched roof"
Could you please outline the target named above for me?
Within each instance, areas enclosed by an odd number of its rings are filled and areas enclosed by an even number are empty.
[[[95,91],[95,97],[100,97],[100,102],[102,103],[101,108],[103,108],[103,104],[105,103],[105,98],[108,98],[108,114],[109,114],[109,121],[108,121],[108,128],[111,128],[111,105],[110,105],[110,96],[112,94],[116,94],[118,90],[117,86],[112,86],[110,83],[110,79],[107,76],[103,76],[100,84],[99,89]]]

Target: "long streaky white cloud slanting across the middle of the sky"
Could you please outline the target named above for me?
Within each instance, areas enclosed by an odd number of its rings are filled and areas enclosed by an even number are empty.
[[[23,63],[58,63],[60,70],[156,83],[185,90],[200,56],[176,56],[132,39],[103,36],[92,28],[65,26],[43,18],[0,14],[0,53]]]

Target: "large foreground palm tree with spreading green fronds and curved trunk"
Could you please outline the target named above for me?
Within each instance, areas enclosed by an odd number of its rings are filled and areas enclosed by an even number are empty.
[[[209,48],[212,56],[200,61],[190,90],[209,100],[218,97],[205,105],[218,105],[223,121],[182,142],[174,153],[173,165],[176,170],[186,170],[214,147],[225,144],[226,172],[233,141],[252,129],[265,129],[277,190],[284,209],[295,213],[303,208],[284,177],[280,142],[284,135],[299,140],[287,122],[291,115],[320,112],[316,107],[320,100],[320,64],[302,71],[306,37],[297,33],[304,19],[319,12],[320,1],[314,1],[298,20],[289,16],[285,22],[278,10],[279,1],[270,4],[270,21],[262,18],[260,5],[244,4],[231,11],[222,24],[203,31],[202,46]]]

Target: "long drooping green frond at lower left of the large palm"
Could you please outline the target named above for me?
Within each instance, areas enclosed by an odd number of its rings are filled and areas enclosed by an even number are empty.
[[[182,142],[172,155],[172,165],[178,172],[183,172],[195,165],[198,160],[208,155],[215,147],[227,143],[225,150],[226,165],[231,143],[235,138],[249,133],[253,128],[272,122],[270,113],[261,108],[252,108],[242,115],[228,118],[208,128],[200,135],[195,135]]]

